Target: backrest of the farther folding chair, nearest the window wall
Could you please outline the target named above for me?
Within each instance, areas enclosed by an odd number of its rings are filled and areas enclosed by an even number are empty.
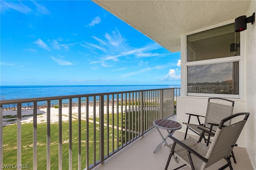
[[[218,99],[218,100],[223,100],[227,101],[227,105],[220,104],[220,103],[214,103],[211,102],[213,99]],[[223,98],[209,98],[208,99],[208,105],[206,109],[206,116],[204,120],[204,125],[207,127],[210,127],[208,123],[220,123],[222,119],[225,119],[226,117],[229,117],[230,115],[233,114],[233,109],[234,109],[234,101],[228,100],[228,99],[223,99]],[[230,125],[231,120],[225,122],[224,125]],[[214,130],[217,129],[217,127],[213,127]]]

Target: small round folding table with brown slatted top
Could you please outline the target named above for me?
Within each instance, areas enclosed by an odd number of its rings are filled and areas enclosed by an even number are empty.
[[[160,146],[165,143],[166,146],[168,146],[166,139],[168,138],[168,135],[172,135],[175,130],[179,130],[182,125],[176,121],[168,120],[168,119],[158,119],[154,121],[154,126],[156,127],[158,133],[160,134],[161,138],[163,139],[162,142],[156,147],[154,150],[154,153],[158,151]],[[165,129],[168,132],[168,135],[164,138],[162,133],[160,132],[159,128]]]

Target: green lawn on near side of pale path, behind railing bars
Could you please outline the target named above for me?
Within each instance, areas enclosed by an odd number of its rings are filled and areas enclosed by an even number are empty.
[[[86,167],[86,122],[81,121],[81,158],[82,167]],[[96,125],[96,129],[98,129]],[[51,158],[51,168],[58,169],[58,123],[51,124],[51,136],[50,136],[50,158]],[[69,155],[69,124],[68,122],[62,123],[62,168],[68,169],[68,155]],[[77,169],[78,167],[78,121],[72,121],[72,169]],[[105,128],[106,129],[106,128]],[[110,131],[112,128],[109,129]],[[89,164],[94,162],[94,139],[93,139],[93,124],[89,123]],[[105,130],[106,131],[106,130]],[[41,123],[37,125],[37,169],[46,169],[46,136],[47,129],[46,124]],[[16,124],[9,125],[3,128],[3,164],[16,164],[17,158],[17,127]],[[99,133],[96,130],[96,160],[99,158],[98,148],[99,148]],[[105,145],[106,145],[106,135],[105,135]],[[112,141],[110,146],[112,145]],[[116,143],[116,142],[115,142]],[[105,147],[106,148],[106,147]],[[106,149],[104,151],[106,153]],[[22,124],[22,164],[28,164],[28,169],[33,168],[33,124]]]

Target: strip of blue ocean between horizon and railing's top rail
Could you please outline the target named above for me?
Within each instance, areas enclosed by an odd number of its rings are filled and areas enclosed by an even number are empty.
[[[55,85],[0,86],[0,99],[28,99],[149,89],[180,88],[180,85]]]

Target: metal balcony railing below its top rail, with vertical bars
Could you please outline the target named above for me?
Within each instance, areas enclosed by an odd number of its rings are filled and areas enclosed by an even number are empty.
[[[172,88],[2,100],[0,169],[92,169],[151,130],[154,120],[174,115],[179,95]],[[3,114],[10,109],[14,115]],[[28,109],[32,115],[23,114]],[[29,117],[32,123],[23,124]]]

